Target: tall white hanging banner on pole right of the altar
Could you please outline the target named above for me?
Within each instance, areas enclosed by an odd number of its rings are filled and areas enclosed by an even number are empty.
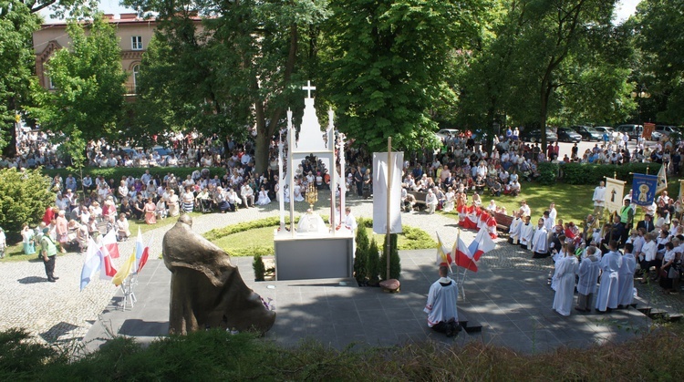
[[[392,179],[388,195],[388,153],[373,153],[373,232],[385,234],[388,226],[387,198],[390,198],[389,232],[401,231],[401,170],[403,151],[391,153]]]

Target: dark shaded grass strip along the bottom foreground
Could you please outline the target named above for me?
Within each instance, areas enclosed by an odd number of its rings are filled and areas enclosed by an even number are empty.
[[[561,348],[532,356],[472,341],[338,351],[314,341],[283,348],[224,330],[171,336],[148,347],[115,338],[69,362],[66,352],[30,342],[26,332],[0,335],[3,380],[679,380],[682,325],[619,345]],[[462,336],[462,335],[461,335]],[[679,376],[679,377],[677,377]]]

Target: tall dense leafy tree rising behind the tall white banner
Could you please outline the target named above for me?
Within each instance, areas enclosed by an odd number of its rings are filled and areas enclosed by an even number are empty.
[[[481,2],[340,0],[326,25],[325,96],[337,126],[369,150],[431,146],[438,105],[454,93],[456,49],[476,36]]]

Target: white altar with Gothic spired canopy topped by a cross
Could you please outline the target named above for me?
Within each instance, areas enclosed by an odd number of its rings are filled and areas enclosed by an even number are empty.
[[[297,164],[307,156],[315,155],[326,164],[330,174],[330,190],[332,200],[329,201],[330,216],[336,216],[335,190],[341,187],[339,211],[345,209],[345,182],[336,170],[336,137],[333,125],[333,111],[328,112],[328,126],[324,133],[321,130],[314,98],[311,98],[309,85],[305,98],[304,116],[296,139],[296,130],[292,126],[292,111],[287,112],[287,170],[283,171],[282,163],[285,159],[283,144],[280,149],[280,184],[295,184],[295,169]],[[324,134],[326,139],[324,139]],[[344,136],[340,134],[338,150],[344,152]],[[344,155],[339,159],[340,173],[345,172]],[[323,278],[349,278],[353,276],[354,237],[345,229],[336,230],[337,224],[326,225],[317,213],[304,213],[299,218],[297,228],[291,224],[289,231],[285,229],[285,200],[288,200],[290,222],[295,222],[295,198],[293,187],[279,187],[280,201],[280,229],[274,233],[275,244],[275,278],[276,280],[304,280]],[[289,198],[283,192],[287,190]],[[327,205],[327,204],[326,204]],[[337,217],[335,219],[339,219]]]

